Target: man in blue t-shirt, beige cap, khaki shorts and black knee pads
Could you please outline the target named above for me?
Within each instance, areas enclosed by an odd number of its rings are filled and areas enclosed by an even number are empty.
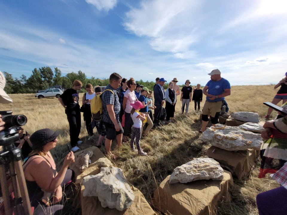
[[[221,77],[219,69],[212,70],[210,81],[207,82],[202,92],[206,95],[206,101],[202,110],[202,128],[200,133],[204,132],[208,123],[208,115],[210,115],[211,124],[218,124],[218,118],[222,108],[222,103],[225,96],[231,93],[231,87],[228,80]]]

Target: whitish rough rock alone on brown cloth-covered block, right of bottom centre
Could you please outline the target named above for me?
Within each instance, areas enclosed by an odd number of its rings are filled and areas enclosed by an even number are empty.
[[[222,180],[222,167],[212,158],[197,158],[176,167],[170,176],[170,184],[209,179]]]

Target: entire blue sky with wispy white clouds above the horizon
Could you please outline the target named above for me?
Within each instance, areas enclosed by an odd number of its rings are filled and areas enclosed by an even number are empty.
[[[287,72],[286,0],[0,0],[0,70],[205,85],[278,83]]]

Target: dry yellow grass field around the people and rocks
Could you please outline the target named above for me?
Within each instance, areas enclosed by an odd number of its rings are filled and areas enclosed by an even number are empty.
[[[267,107],[263,102],[271,102],[277,90],[273,85],[268,86],[233,86],[231,95],[226,97],[229,106],[229,113],[238,111],[250,111],[265,116]],[[60,132],[59,144],[51,151],[57,161],[58,169],[62,160],[67,154],[66,143],[69,142],[68,121],[64,108],[57,98],[37,99],[34,94],[12,94],[11,104],[0,104],[0,110],[13,110],[13,114],[24,114],[28,118],[27,125],[23,126],[29,133],[42,128],[50,128]],[[80,95],[82,97],[83,95]],[[180,97],[178,96],[178,99]],[[81,99],[80,99],[81,100]],[[81,105],[81,104],[80,104]],[[201,103],[201,109],[203,102]],[[193,103],[190,104],[188,115],[181,114],[181,102],[176,105],[175,122],[161,126],[149,133],[149,136],[141,140],[141,147],[147,152],[147,156],[137,156],[131,152],[129,144],[124,143],[120,148],[113,141],[112,150],[119,158],[112,161],[121,168],[126,179],[137,187],[152,205],[153,192],[160,182],[170,175],[173,169],[193,158],[204,155],[210,147],[200,140],[200,133],[197,130],[201,127],[199,113],[194,112]],[[274,118],[276,112],[271,117]],[[86,127],[83,125],[80,133],[83,143],[80,149],[95,145],[94,141],[88,141]],[[105,153],[104,147],[101,148]],[[231,201],[221,202],[216,208],[216,214],[247,215],[258,214],[256,207],[256,195],[278,187],[278,183],[269,176],[265,179],[258,179],[259,158],[257,166],[245,180],[234,179],[234,186],[231,190]],[[73,198],[73,197],[71,197]],[[71,199],[69,200],[71,202]],[[79,211],[77,211],[77,214]],[[71,211],[71,214],[76,214]]]

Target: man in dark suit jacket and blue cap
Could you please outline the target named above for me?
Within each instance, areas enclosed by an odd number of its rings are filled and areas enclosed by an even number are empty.
[[[154,125],[158,125],[159,123],[159,117],[158,114],[160,113],[161,106],[164,105],[165,102],[165,95],[164,95],[164,83],[166,80],[164,78],[159,79],[159,83],[155,85],[153,95],[155,97],[155,119],[154,119]]]

